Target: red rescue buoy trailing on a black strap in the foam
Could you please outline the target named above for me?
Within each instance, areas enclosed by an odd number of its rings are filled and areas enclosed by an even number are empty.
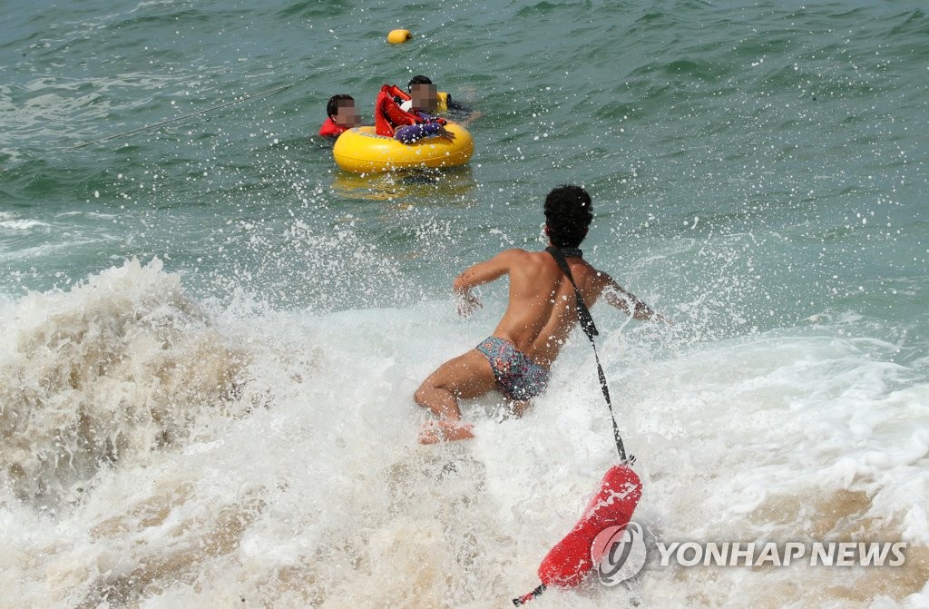
[[[591,547],[594,538],[610,526],[626,526],[632,520],[635,506],[642,496],[642,482],[627,464],[611,467],[600,483],[599,492],[591,499],[581,520],[571,532],[552,548],[539,565],[542,586],[529,594],[513,599],[521,605],[530,601],[543,590],[556,586],[573,588],[583,581],[594,566]]]

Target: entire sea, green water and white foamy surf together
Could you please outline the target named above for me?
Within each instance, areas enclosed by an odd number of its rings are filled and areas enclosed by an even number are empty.
[[[585,256],[676,322],[594,311],[648,547],[909,547],[895,568],[649,559],[539,606],[929,602],[922,3],[2,7],[0,604],[533,588],[611,462],[592,354],[575,340],[522,420],[465,404],[467,444],[417,446],[412,391],[504,306],[491,285],[458,318],[451,278],[542,247],[563,182],[594,198]],[[309,137],[326,99],[370,122],[415,73],[480,113],[470,164],[339,171]]]

